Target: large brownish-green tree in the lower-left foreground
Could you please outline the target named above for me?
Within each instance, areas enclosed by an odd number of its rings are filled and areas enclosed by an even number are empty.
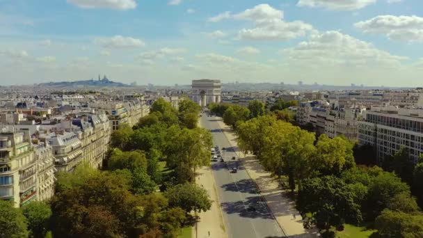
[[[145,207],[130,188],[125,176],[102,172],[56,193],[51,199],[54,235],[119,237],[138,233]]]

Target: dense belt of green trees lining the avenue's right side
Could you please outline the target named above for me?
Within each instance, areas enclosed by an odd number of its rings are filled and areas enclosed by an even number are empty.
[[[382,236],[423,235],[408,184],[382,168],[356,166],[350,141],[325,134],[316,139],[275,115],[239,121],[236,132],[242,150],[255,154],[266,170],[286,176],[289,189],[298,191],[296,205],[305,227],[342,230],[344,223],[376,219]]]

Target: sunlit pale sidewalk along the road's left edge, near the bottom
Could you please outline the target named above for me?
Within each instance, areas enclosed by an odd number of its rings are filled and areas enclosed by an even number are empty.
[[[197,176],[195,177],[195,183],[207,190],[207,193],[209,193],[213,203],[212,208],[209,211],[200,212],[198,214],[200,220],[197,223],[197,232],[195,232],[194,228],[192,237],[227,238],[228,235],[226,235],[225,225],[223,224],[221,203],[219,203],[218,200],[212,168],[202,167],[196,173]]]

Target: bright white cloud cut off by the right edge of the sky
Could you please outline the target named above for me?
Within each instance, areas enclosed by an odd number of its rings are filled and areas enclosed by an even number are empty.
[[[365,33],[386,35],[390,40],[423,42],[423,17],[381,15],[354,26]]]

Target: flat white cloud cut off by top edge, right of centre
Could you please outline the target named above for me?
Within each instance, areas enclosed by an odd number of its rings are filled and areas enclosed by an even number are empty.
[[[326,8],[328,10],[357,10],[365,8],[377,0],[299,0],[300,7]]]

